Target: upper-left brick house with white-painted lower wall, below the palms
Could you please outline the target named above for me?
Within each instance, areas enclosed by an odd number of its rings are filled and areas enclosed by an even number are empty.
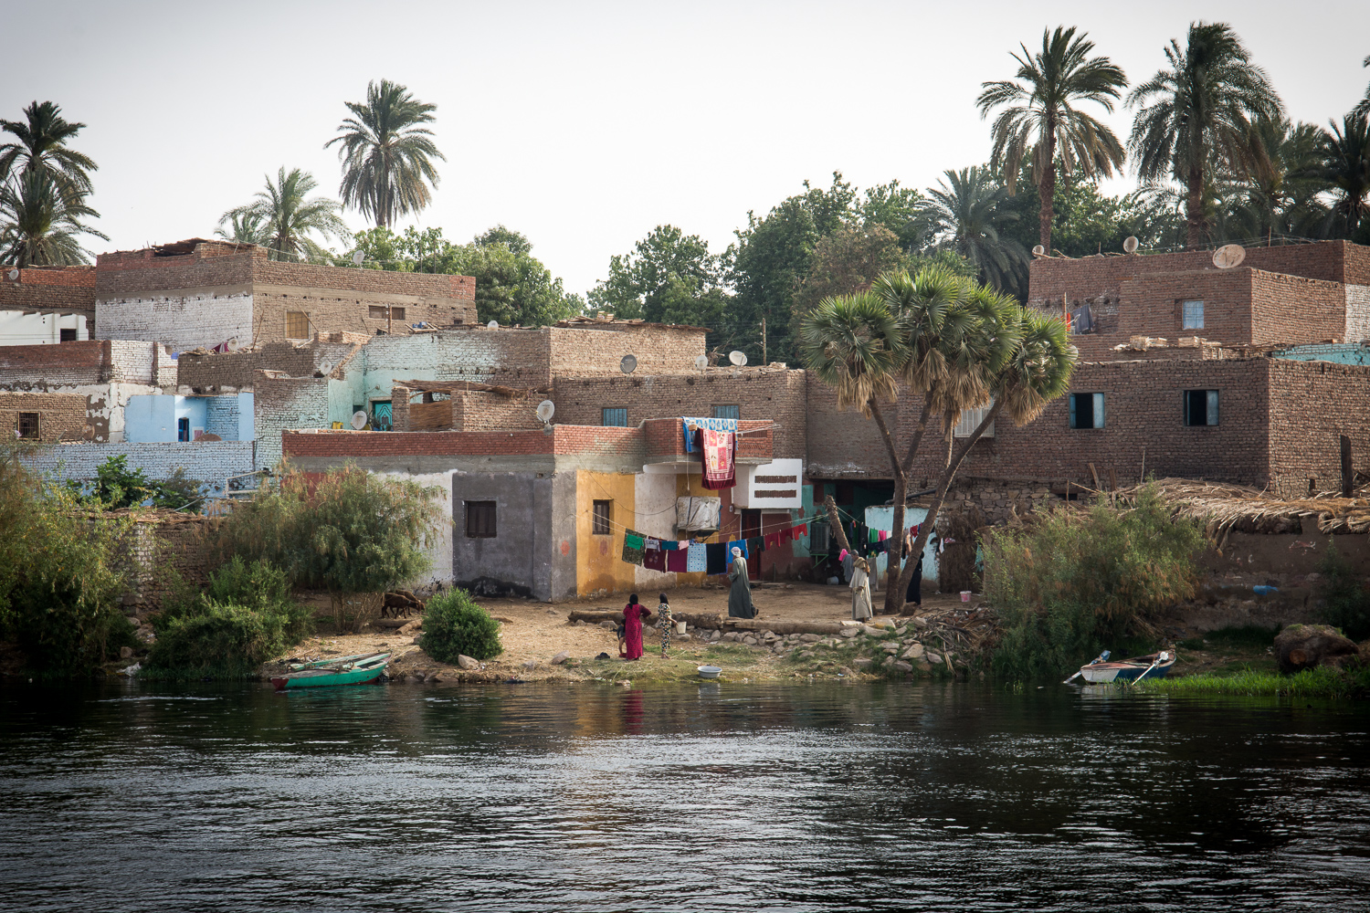
[[[155,339],[177,352],[475,320],[471,277],[285,263],[227,241],[101,253],[95,275],[97,338]]]

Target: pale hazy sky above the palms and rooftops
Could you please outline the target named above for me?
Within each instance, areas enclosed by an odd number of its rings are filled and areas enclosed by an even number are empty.
[[[1132,82],[1195,19],[1229,22],[1291,118],[1325,125],[1366,90],[1370,3],[0,3],[0,118],[33,100],[88,125],[110,241],[210,237],[277,168],[337,196],[344,101],[369,79],[437,105],[447,155],[410,222],[464,242],[503,223],[569,292],[655,226],[721,252],[834,170],[934,185],[984,162],[980,85],[1010,51],[1077,26]],[[1103,115],[1103,112],[1097,112]],[[1126,140],[1132,116],[1103,115]],[[1128,175],[1111,193],[1136,186]],[[367,227],[355,211],[352,229]],[[403,224],[403,223],[401,223]]]

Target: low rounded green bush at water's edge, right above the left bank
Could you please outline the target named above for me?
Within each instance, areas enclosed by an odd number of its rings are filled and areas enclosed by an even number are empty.
[[[234,556],[204,593],[174,587],[153,626],[145,678],[240,679],[306,638],[314,617],[290,598],[285,571]]]

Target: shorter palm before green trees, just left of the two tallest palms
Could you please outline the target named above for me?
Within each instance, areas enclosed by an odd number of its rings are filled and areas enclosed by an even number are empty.
[[[1017,241],[1000,237],[1003,223],[1018,215],[1001,207],[1008,190],[993,171],[971,166],[947,171],[947,181],[929,188],[923,212],[929,218],[934,246],[951,249],[980,270],[982,282],[999,290],[1021,285],[1028,252]]]

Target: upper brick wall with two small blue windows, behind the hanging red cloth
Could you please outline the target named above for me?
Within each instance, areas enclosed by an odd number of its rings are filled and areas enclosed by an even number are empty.
[[[743,420],[769,419],[775,423],[775,456],[804,459],[807,389],[803,371],[743,370],[706,371],[675,375],[633,375],[601,378],[558,376],[553,386],[555,422],[603,424],[603,409],[627,409],[629,427],[664,416],[712,415],[715,405],[736,405]],[[678,428],[677,428],[678,431]],[[680,437],[677,434],[677,437]]]

